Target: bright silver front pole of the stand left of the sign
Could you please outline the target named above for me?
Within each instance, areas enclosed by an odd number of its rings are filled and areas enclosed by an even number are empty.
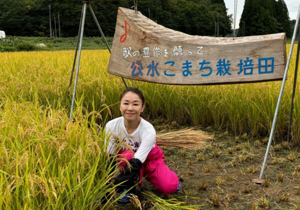
[[[80,55],[81,55],[81,46],[82,46],[83,29],[84,29],[84,20],[85,20],[85,13],[86,13],[86,4],[88,4],[88,3],[89,3],[89,1],[83,1],[82,20],[80,20],[81,21],[81,28],[80,28],[79,53],[78,53],[77,68],[76,68],[75,82],[74,82],[74,88],[73,88],[73,97],[72,97],[72,103],[71,103],[71,111],[70,111],[69,122],[72,120],[72,114],[73,114],[73,106],[74,106],[75,93],[76,93],[76,85],[77,85],[78,72],[79,72],[79,64],[80,64]]]

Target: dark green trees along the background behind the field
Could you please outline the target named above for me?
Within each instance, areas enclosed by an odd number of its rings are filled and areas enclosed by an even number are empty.
[[[232,33],[232,14],[227,14],[224,0],[138,0],[137,3],[138,11],[167,28],[191,35],[226,36]],[[133,1],[101,0],[90,4],[104,35],[113,36],[118,7],[132,8]],[[81,10],[81,0],[0,0],[0,30],[7,35],[49,36],[51,19],[53,31],[55,26],[58,31],[59,24],[63,37],[76,36]],[[244,35],[275,32],[289,35],[284,0],[245,0],[239,26],[244,26]],[[243,35],[241,31],[238,35]],[[88,9],[84,35],[99,36]]]

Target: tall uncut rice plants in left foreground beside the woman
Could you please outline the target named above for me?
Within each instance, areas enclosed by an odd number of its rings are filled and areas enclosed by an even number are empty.
[[[80,104],[68,123],[63,107],[41,106],[33,97],[1,103],[1,208],[96,208],[114,193],[108,183],[115,173],[95,123],[100,113],[85,114]]]

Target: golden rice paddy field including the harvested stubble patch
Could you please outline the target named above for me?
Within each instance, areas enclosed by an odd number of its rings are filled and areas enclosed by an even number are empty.
[[[197,149],[162,147],[181,192],[163,197],[144,181],[126,205],[116,203],[120,195],[110,182],[118,171],[103,141],[105,123],[120,115],[124,89],[107,73],[108,50],[82,51],[70,123],[74,51],[0,53],[1,208],[300,209],[298,84],[285,141],[296,46],[262,184],[251,179],[262,166],[281,81],[183,86],[126,79],[144,93],[145,115],[158,132],[201,126],[213,135]],[[111,196],[104,203],[105,195]]]

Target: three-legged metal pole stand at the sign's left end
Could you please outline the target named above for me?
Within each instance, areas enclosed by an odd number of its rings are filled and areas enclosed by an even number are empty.
[[[73,72],[74,72],[74,68],[75,68],[75,62],[76,62],[76,57],[77,57],[77,51],[78,51],[78,46],[79,46],[79,52],[78,52],[78,60],[77,60],[77,67],[76,67],[76,74],[75,74],[75,82],[74,82],[74,88],[73,88],[73,95],[72,95],[72,103],[71,103],[71,110],[70,110],[70,116],[69,116],[69,121],[71,121],[72,119],[72,112],[73,112],[73,107],[74,107],[74,101],[75,101],[75,94],[76,94],[76,85],[77,85],[77,79],[78,79],[78,72],[79,72],[79,64],[80,64],[80,55],[81,55],[81,46],[82,46],[82,38],[83,38],[83,28],[84,28],[84,21],[85,21],[85,14],[86,14],[86,6],[88,5],[89,10],[94,18],[94,21],[96,22],[96,25],[105,41],[105,44],[108,48],[109,53],[111,53],[110,47],[107,43],[107,40],[101,30],[101,27],[97,21],[97,18],[90,6],[90,1],[91,0],[84,0],[82,1],[83,6],[82,6],[82,11],[81,11],[81,17],[80,17],[80,23],[79,23],[79,29],[78,29],[78,36],[77,36],[77,41],[76,41],[76,48],[75,48],[75,54],[74,54],[74,59],[73,59],[73,65],[72,65],[72,71],[71,71],[71,76],[70,76],[70,81],[69,81],[69,86],[68,86],[68,90],[71,87],[71,83],[72,83],[72,78],[73,78]],[[121,77],[123,80],[123,83],[125,85],[125,87],[127,88],[127,84],[126,81],[124,80],[123,77]]]

